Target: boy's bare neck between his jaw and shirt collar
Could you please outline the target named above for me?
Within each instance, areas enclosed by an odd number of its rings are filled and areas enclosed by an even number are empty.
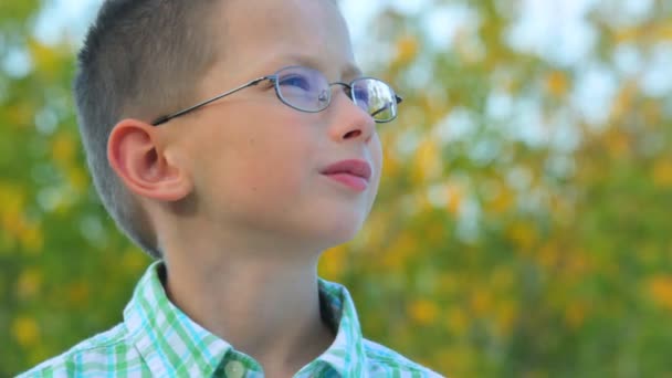
[[[193,250],[168,251],[169,298],[260,361],[266,376],[295,372],[328,348],[334,335],[321,317],[317,254],[297,261],[283,251],[199,251],[197,256],[189,253]]]

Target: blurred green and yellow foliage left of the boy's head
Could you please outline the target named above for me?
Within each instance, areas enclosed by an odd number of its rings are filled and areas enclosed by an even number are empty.
[[[74,46],[33,35],[39,1],[0,3],[0,376],[120,321],[148,259],[97,201],[80,148]]]

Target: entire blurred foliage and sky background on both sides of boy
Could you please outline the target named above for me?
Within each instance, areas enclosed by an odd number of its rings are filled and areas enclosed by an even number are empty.
[[[84,167],[74,52],[99,0],[0,1],[0,376],[120,321],[149,259]],[[343,1],[406,98],[323,276],[452,377],[672,377],[672,2]]]

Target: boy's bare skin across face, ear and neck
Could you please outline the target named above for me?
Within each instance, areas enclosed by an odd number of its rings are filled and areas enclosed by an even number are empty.
[[[214,27],[222,57],[197,83],[195,103],[287,65],[329,82],[360,76],[330,1],[232,0],[213,11],[224,20]],[[292,376],[333,342],[319,317],[317,260],[359,231],[378,190],[376,125],[333,91],[327,109],[308,114],[263,83],[160,127],[124,119],[108,143],[159,235],[171,301],[267,377]],[[344,159],[370,164],[365,191],[321,174]]]

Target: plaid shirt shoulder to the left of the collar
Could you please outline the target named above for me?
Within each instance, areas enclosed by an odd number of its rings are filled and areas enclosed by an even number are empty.
[[[65,353],[50,358],[18,377],[70,377],[86,371],[107,374],[120,365],[128,368],[140,358],[128,342],[128,332],[122,323],[113,328],[80,342]],[[136,355],[136,356],[134,356]]]

